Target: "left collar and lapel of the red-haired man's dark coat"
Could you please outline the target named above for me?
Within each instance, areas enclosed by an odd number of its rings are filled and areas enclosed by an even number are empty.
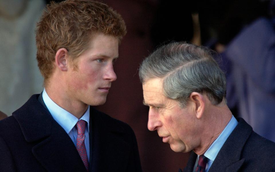
[[[34,145],[32,153],[50,172],[86,171],[68,134],[38,101],[38,94],[13,113],[25,140]]]

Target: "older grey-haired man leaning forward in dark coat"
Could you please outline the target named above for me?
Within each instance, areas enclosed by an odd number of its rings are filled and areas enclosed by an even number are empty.
[[[275,143],[232,115],[225,75],[213,53],[174,42],[142,62],[148,129],[158,131],[173,151],[192,151],[184,172],[275,171]]]

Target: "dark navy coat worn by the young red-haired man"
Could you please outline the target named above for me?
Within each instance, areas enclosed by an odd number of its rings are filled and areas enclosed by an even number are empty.
[[[141,172],[137,142],[127,124],[90,108],[91,172]],[[0,121],[1,172],[87,172],[76,147],[48,112],[41,94]]]

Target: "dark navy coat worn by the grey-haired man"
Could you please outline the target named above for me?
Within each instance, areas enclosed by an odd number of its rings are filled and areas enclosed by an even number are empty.
[[[242,118],[237,120],[238,125],[225,141],[208,172],[274,172],[275,143],[255,133]],[[192,151],[183,172],[193,171],[196,158],[197,154]]]

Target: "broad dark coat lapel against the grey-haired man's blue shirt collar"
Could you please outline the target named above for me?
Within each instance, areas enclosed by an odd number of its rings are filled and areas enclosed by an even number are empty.
[[[252,127],[242,118],[239,118],[238,120],[239,124],[225,141],[215,161],[211,165],[209,172],[235,172],[239,170],[241,165],[243,165],[245,159],[240,159],[241,152],[247,139],[252,133]]]

